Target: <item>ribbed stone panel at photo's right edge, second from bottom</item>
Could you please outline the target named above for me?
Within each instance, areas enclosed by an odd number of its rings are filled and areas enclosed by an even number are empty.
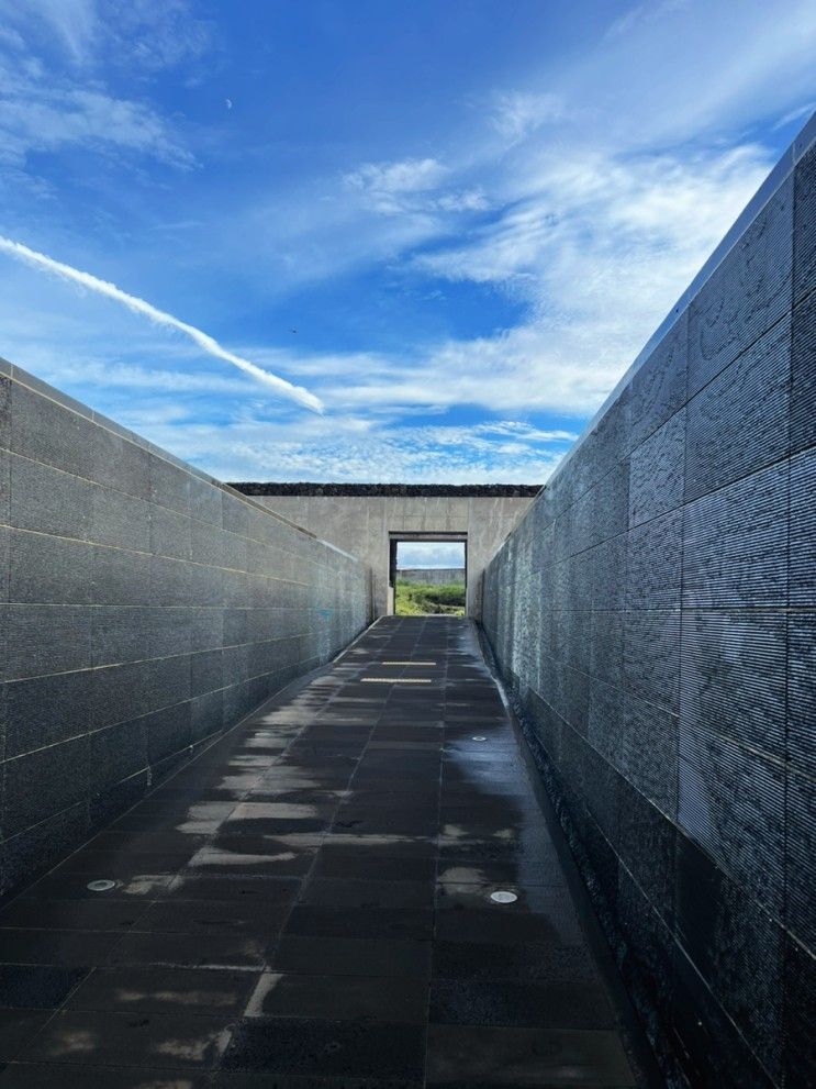
[[[811,773],[813,768],[811,768]],[[816,946],[813,859],[816,853],[816,792],[813,778],[787,774],[787,927],[809,949]]]

